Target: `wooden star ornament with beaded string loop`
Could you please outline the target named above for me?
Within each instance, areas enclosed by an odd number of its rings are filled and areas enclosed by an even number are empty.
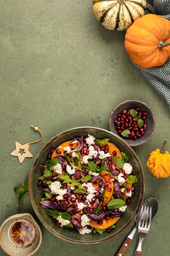
[[[33,155],[31,154],[31,152],[29,152],[29,146],[30,144],[33,144],[35,142],[38,142],[42,139],[42,131],[37,127],[37,126],[33,126],[31,125],[31,127],[34,128],[34,130],[38,130],[41,134],[41,138],[35,141],[31,141],[29,143],[26,143],[24,145],[20,144],[18,141],[15,141],[15,150],[13,150],[11,152],[10,155],[13,155],[15,157],[18,157],[18,160],[20,162],[20,164],[22,164],[22,162],[24,161],[25,157],[33,157]],[[20,151],[23,150],[24,152],[21,153]]]

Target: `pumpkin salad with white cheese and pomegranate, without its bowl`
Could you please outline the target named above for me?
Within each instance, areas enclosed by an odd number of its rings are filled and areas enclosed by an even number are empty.
[[[41,165],[40,203],[60,228],[111,232],[135,194],[132,165],[107,138],[82,135],[52,149]]]

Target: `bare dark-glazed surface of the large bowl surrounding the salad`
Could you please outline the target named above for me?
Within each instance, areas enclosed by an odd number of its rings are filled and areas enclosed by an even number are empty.
[[[121,216],[120,220],[116,223],[116,228],[112,232],[104,232],[102,235],[93,233],[81,235],[75,229],[65,228],[61,230],[59,227],[57,227],[57,225],[55,225],[55,221],[45,213],[44,208],[40,204],[44,193],[41,187],[37,185],[38,178],[41,176],[40,165],[46,162],[48,159],[47,156],[51,150],[57,148],[57,146],[62,144],[64,141],[88,134],[93,135],[95,138],[108,138],[111,142],[115,143],[119,147],[120,151],[127,154],[129,160],[132,162],[133,175],[136,175],[138,178],[137,183],[135,183],[135,195],[132,197],[131,204],[128,205],[125,214]],[[144,172],[141,163],[139,162],[139,159],[132,148],[123,139],[119,138],[119,136],[113,134],[112,132],[95,127],[73,128],[53,137],[38,153],[31,168],[29,181],[29,190],[33,209],[35,210],[35,213],[42,224],[55,236],[68,242],[77,244],[102,243],[121,234],[135,220],[144,199],[144,187]]]

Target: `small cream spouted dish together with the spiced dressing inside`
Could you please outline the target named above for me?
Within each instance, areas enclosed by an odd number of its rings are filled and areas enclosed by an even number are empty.
[[[0,245],[11,256],[31,256],[38,250],[41,242],[40,227],[29,213],[15,214],[7,218],[0,227]]]

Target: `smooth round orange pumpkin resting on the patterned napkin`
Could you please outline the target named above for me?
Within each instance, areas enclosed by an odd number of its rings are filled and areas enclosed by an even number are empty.
[[[146,14],[127,29],[125,49],[141,67],[158,67],[170,56],[170,21],[156,14]]]

